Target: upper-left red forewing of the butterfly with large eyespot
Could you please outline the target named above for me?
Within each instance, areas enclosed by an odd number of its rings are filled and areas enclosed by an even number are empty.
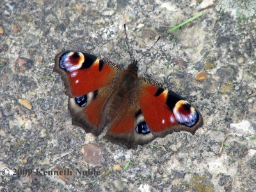
[[[54,71],[62,75],[69,97],[81,97],[107,84],[115,84],[122,72],[115,63],[85,52],[60,52],[55,63]]]

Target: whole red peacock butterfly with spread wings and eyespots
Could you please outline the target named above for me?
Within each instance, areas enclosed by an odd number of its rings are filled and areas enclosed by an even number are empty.
[[[95,136],[108,127],[105,137],[128,148],[172,132],[195,134],[204,124],[180,95],[138,77],[137,60],[123,70],[86,52],[63,51],[55,57],[54,71],[64,80],[72,124]]]

